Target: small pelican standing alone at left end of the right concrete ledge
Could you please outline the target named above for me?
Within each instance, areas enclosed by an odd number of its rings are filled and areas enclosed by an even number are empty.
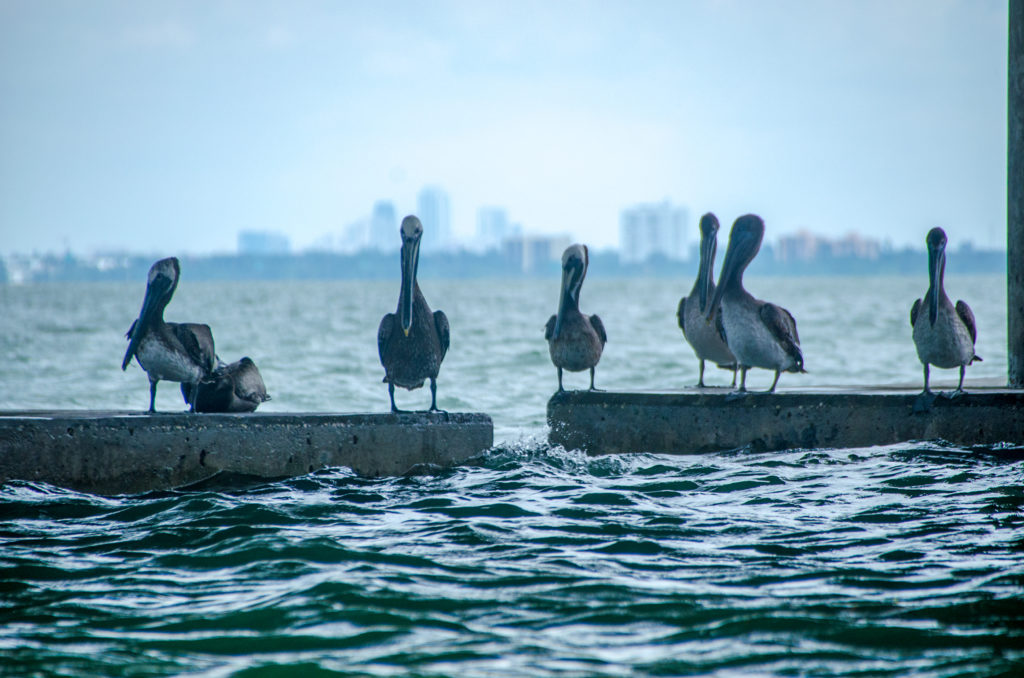
[[[548,340],[551,362],[558,368],[558,391],[562,388],[562,370],[590,370],[590,390],[594,388],[594,368],[608,341],[604,325],[597,315],[580,312],[580,288],[587,276],[590,256],[586,245],[570,245],[562,254],[562,288],[558,313],[548,320],[544,338]]]

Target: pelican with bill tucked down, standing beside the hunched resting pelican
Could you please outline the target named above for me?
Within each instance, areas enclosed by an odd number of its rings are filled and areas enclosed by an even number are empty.
[[[209,325],[196,323],[165,323],[164,308],[178,286],[180,265],[176,257],[161,259],[150,268],[145,298],[138,319],[125,335],[128,350],[121,369],[126,370],[131,358],[150,376],[150,412],[156,412],[157,382],[178,381],[188,384],[193,402],[199,382],[213,371],[216,354]],[[195,406],[190,410],[196,412]]]

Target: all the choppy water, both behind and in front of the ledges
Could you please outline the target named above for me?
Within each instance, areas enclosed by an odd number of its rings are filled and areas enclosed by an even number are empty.
[[[396,284],[183,274],[168,320],[208,322],[222,357],[252,356],[274,396],[267,410],[387,409],[376,329]],[[1005,379],[1004,285],[949,281],[979,320],[985,362],[969,377]],[[144,409],[144,375],[118,369],[142,287],[0,286],[0,409]],[[542,327],[557,282],[423,287],[453,328],[438,404],[489,413],[495,450],[437,476],[379,480],[338,469],[122,498],[10,483],[0,673],[1024,673],[1024,463],[941,442],[550,449]],[[689,287],[587,283],[583,307],[610,339],[598,385],[696,380],[674,317]],[[811,374],[783,386],[920,383],[908,309],[924,276],[749,287],[800,324]],[[158,409],[180,410],[179,398],[162,385]],[[399,406],[428,402],[426,390],[399,392]]]

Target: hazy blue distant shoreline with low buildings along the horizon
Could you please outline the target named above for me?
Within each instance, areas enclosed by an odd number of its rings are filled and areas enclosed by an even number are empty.
[[[424,254],[422,272],[428,278],[467,280],[548,277],[557,279],[560,258],[569,244],[567,235],[514,234],[500,248],[486,251],[450,250]],[[239,252],[183,255],[189,281],[228,280],[384,280],[397,271],[393,252],[367,247],[357,252],[306,250],[289,252],[281,234],[247,231],[240,235]],[[626,261],[617,252],[591,250],[591,274],[597,278],[683,278],[696,272],[696,245],[687,260],[652,253],[643,261]],[[951,250],[949,271],[961,274],[1006,274],[1007,253],[962,245]],[[34,283],[133,282],[144,280],[151,255],[106,253],[92,255],[26,254],[0,257],[0,285]],[[824,239],[799,232],[767,243],[751,264],[753,277],[783,276],[913,276],[925,280],[927,256],[912,248],[893,248],[876,240],[847,236]],[[385,265],[390,262],[391,265]]]

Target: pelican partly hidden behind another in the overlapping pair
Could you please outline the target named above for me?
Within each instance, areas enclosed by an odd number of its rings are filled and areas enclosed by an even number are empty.
[[[708,301],[715,294],[715,250],[718,249],[718,217],[709,212],[700,217],[700,267],[688,297],[679,300],[679,329],[693,352],[700,359],[697,386],[703,388],[705,361],[725,370],[732,370],[732,385],[736,385],[736,358],[725,341],[722,312],[715,313],[714,325],[705,320]]]

